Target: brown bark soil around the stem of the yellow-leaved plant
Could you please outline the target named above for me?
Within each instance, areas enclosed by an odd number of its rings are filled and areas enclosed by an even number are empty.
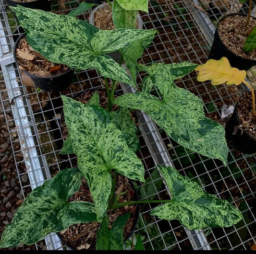
[[[241,125],[235,128],[247,132],[252,139],[256,139],[256,118],[252,112],[252,97],[250,93],[243,93],[237,105],[237,115]]]

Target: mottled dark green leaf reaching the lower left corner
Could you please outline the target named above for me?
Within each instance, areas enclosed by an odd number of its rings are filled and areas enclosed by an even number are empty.
[[[70,225],[96,221],[92,203],[67,202],[78,191],[81,177],[77,168],[65,169],[35,188],[17,209],[12,223],[6,226],[0,248],[29,245]]]

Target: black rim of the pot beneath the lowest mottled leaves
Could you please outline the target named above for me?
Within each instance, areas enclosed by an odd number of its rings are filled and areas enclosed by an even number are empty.
[[[139,196],[138,196],[138,192],[136,190],[136,188],[134,187],[133,182],[128,178],[128,182],[132,187],[133,190],[133,199],[134,201],[138,201],[139,200]],[[128,190],[128,189],[127,189]],[[129,227],[129,232],[126,232],[126,235],[124,236],[123,242],[127,241],[134,233],[135,227],[138,223],[138,219],[139,219],[139,212],[140,212],[140,206],[139,204],[136,204],[136,208],[135,210],[132,212],[130,218],[128,219],[128,221],[130,221],[129,223],[132,223],[131,226]],[[121,213],[119,216],[122,216],[123,214]],[[125,232],[124,232],[125,233]],[[70,244],[68,244],[67,242],[64,241],[63,237],[61,236],[61,233],[58,232],[57,235],[59,236],[61,242],[63,243],[63,245],[67,246],[69,249],[71,250],[77,250],[77,247],[79,246],[71,246]],[[73,236],[75,237],[75,236]],[[84,244],[83,244],[84,245]],[[82,249],[85,250],[85,249]]]

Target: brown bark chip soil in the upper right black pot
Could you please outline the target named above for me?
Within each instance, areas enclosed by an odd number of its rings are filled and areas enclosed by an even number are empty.
[[[256,59],[256,49],[251,52],[244,52],[244,42],[250,31],[256,25],[256,20],[250,18],[246,28],[247,16],[231,15],[219,22],[219,38],[234,54],[243,58]]]

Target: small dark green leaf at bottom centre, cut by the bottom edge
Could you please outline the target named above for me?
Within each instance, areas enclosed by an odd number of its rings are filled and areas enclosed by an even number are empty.
[[[104,216],[97,234],[96,250],[123,250],[123,230],[130,215],[126,213],[117,217],[111,229],[109,228],[109,216]]]

